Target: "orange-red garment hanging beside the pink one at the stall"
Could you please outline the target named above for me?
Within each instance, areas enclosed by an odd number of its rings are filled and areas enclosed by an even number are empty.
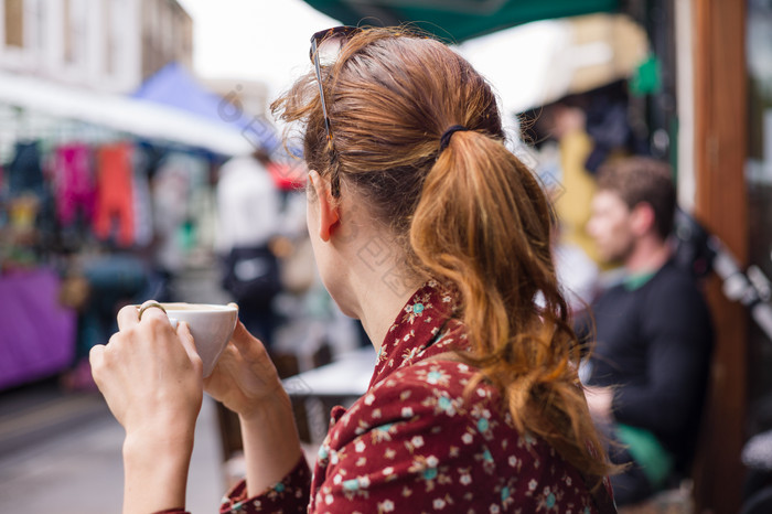
[[[107,144],[97,151],[94,233],[101,239],[110,239],[117,223],[115,240],[124,247],[135,242],[132,175],[129,143]]]

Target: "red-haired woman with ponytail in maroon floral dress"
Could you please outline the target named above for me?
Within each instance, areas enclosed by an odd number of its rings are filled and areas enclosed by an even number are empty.
[[[246,480],[222,512],[614,512],[549,204],[505,148],[489,84],[404,30],[320,32],[311,58],[272,109],[302,135],[317,266],[377,351],[369,387],[332,410],[311,474],[289,398],[242,325],[202,385],[184,325],[121,311],[92,360],[127,430],[125,512],[184,508],[202,387],[242,424]],[[147,339],[180,342],[176,355],[154,345],[170,355],[153,376],[130,358]],[[131,401],[138,383],[148,393]]]

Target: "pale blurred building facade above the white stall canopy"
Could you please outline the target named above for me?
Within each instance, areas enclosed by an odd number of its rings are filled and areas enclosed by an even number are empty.
[[[0,2],[2,71],[128,93],[192,55],[193,22],[175,0]]]

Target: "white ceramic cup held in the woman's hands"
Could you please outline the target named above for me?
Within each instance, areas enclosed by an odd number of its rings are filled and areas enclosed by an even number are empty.
[[[180,321],[191,328],[195,350],[204,364],[204,377],[210,376],[227,346],[236,322],[238,308],[235,304],[215,306],[208,303],[161,303],[172,326]]]

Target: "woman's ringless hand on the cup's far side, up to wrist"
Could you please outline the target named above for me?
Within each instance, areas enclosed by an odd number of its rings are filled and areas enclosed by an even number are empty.
[[[270,400],[286,396],[265,346],[240,321],[204,385],[213,398],[243,419],[250,419]]]

